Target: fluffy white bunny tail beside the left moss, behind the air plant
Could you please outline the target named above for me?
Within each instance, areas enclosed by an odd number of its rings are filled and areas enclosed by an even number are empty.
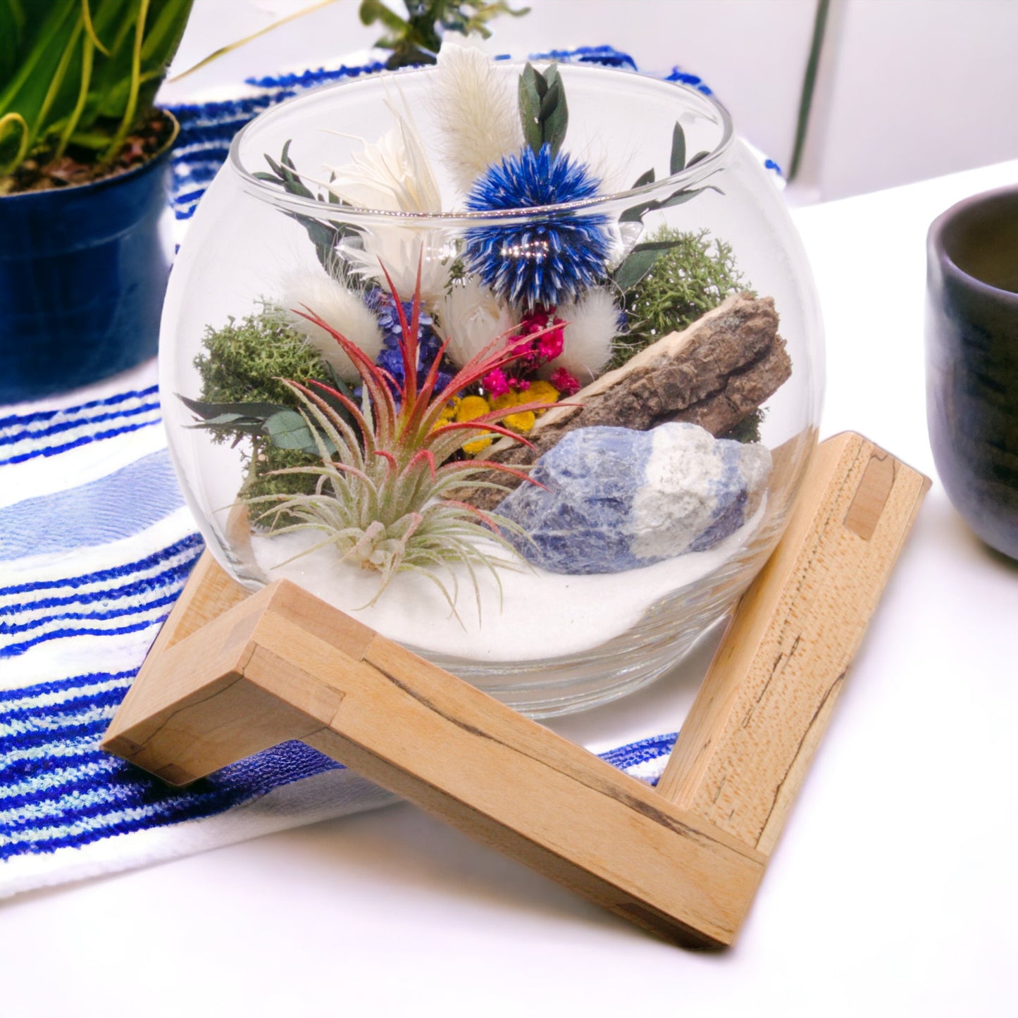
[[[345,382],[357,382],[360,375],[335,338],[321,326],[295,314],[309,308],[360,347],[374,360],[382,350],[382,330],[360,294],[322,272],[291,276],[284,284],[284,306],[289,324],[315,347],[323,359]]]

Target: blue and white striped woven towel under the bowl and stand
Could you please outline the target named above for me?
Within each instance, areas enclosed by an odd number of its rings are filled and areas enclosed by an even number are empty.
[[[607,47],[554,56],[632,65]],[[241,99],[176,108],[178,221],[250,117],[379,66],[251,79]],[[183,791],[99,749],[202,551],[166,451],[154,363],[0,408],[0,897],[392,801],[299,742]],[[653,781],[674,738],[604,755]]]

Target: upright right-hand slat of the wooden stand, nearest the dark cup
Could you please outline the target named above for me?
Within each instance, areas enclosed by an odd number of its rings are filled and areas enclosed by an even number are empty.
[[[658,791],[770,853],[929,482],[859,435],[814,454]]]

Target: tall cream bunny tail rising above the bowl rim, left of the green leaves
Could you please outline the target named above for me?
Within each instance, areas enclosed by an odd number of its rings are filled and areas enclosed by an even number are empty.
[[[466,191],[489,166],[523,147],[515,88],[480,50],[450,41],[439,51],[434,90],[442,159]]]

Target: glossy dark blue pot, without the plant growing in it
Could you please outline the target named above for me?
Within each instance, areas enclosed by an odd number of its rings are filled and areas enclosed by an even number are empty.
[[[0,197],[0,403],[88,385],[155,355],[173,139],[118,176]]]

